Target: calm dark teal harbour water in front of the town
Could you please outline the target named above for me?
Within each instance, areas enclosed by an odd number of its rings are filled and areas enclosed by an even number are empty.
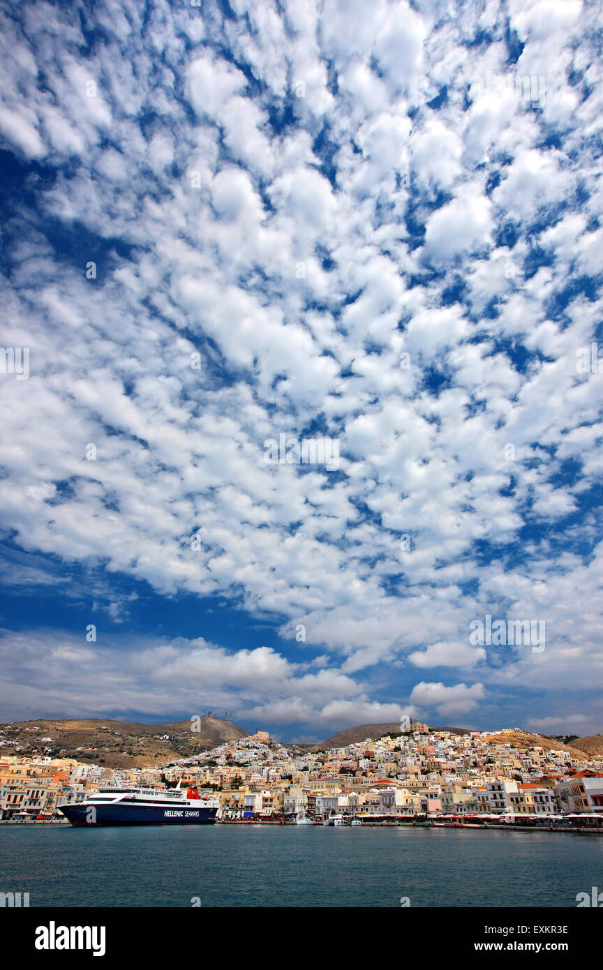
[[[0,825],[30,906],[576,906],[603,838],[429,828]]]

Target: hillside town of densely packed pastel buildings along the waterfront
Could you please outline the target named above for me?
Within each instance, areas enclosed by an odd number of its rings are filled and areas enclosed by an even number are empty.
[[[346,747],[304,750],[260,730],[194,758],[129,769],[1,754],[0,820],[64,822],[64,804],[99,788],[141,785],[210,793],[219,800],[221,822],[287,822],[302,815],[342,824],[497,817],[602,823],[601,757],[528,743],[528,735],[523,745],[522,733],[504,728],[492,740],[492,732],[430,730],[414,722],[407,731]]]

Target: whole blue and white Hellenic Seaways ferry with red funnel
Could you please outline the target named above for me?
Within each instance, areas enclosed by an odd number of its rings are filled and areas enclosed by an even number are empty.
[[[179,783],[178,783],[179,786]],[[59,811],[72,825],[200,825],[215,822],[219,803],[196,788],[101,788]]]

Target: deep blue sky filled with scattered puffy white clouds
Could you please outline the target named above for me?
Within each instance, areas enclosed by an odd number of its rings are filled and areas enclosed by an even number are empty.
[[[5,8],[1,720],[603,729],[601,25]]]

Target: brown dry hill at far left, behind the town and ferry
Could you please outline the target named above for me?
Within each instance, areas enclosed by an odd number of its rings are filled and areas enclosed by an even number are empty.
[[[205,716],[200,730],[190,721],[145,725],[100,718],[73,721],[20,721],[0,725],[1,755],[49,755],[76,758],[111,768],[146,767],[164,761],[190,758],[227,741],[246,737],[249,731],[232,721]],[[43,740],[50,738],[51,740]],[[6,742],[16,742],[18,749]]]

